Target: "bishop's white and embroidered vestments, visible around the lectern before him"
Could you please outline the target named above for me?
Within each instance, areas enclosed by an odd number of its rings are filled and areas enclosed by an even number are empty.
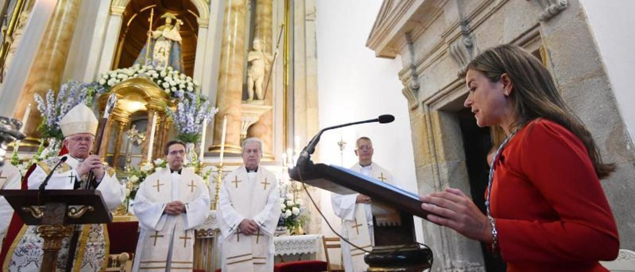
[[[62,157],[67,160],[55,170],[45,189],[72,190],[77,184],[83,184],[86,175],[78,177],[77,167],[83,160],[69,154],[37,163],[36,168],[27,177],[29,189],[39,189],[40,184]],[[109,210],[117,208],[125,198],[124,187],[119,184],[115,170],[105,167],[104,178],[98,182],[97,191],[102,193]],[[83,185],[81,185],[83,186]],[[20,234],[12,241],[11,248],[3,262],[3,271],[39,271],[41,266],[44,240],[36,233],[37,226],[22,226]],[[73,271],[99,271],[106,266],[108,254],[108,231],[105,224],[87,224],[78,227],[81,233],[75,250]],[[70,236],[62,240],[58,252],[57,271],[65,271],[69,254]]]

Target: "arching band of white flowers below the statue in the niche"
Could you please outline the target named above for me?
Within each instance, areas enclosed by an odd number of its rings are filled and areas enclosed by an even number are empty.
[[[148,78],[163,89],[163,92],[175,99],[183,99],[189,93],[197,93],[199,83],[171,66],[155,68],[152,65],[135,64],[128,68],[117,69],[102,74],[98,83],[110,89],[129,78]]]

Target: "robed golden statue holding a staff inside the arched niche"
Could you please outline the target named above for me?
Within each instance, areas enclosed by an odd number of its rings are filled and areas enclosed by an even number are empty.
[[[152,65],[156,68],[171,66],[177,71],[184,72],[182,38],[178,32],[183,21],[170,12],[161,15],[161,18],[165,19],[165,24],[157,27],[155,31],[148,31],[148,43],[139,53],[135,64]],[[174,25],[173,21],[176,21]]]

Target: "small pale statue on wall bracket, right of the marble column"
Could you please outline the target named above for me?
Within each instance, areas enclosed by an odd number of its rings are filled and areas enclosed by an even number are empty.
[[[247,54],[247,102],[248,103],[264,103],[264,91],[262,83],[265,79],[265,67],[271,63],[271,56],[262,51],[262,42],[260,39],[253,39],[253,51]],[[254,97],[255,95],[255,97]]]

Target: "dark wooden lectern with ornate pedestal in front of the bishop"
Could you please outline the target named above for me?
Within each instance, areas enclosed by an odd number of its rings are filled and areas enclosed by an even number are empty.
[[[62,239],[74,225],[105,224],[112,215],[102,193],[92,190],[0,190],[13,210],[27,225],[36,225],[44,239],[40,271],[55,271]]]

